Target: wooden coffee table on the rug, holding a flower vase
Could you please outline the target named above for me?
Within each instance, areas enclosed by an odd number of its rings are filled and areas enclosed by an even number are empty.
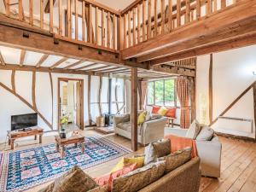
[[[60,136],[55,136],[56,151],[59,151],[61,153],[61,158],[64,157],[66,145],[74,144],[77,148],[78,143],[81,143],[81,151],[82,153],[84,153],[84,136],[77,135],[68,138],[61,138]]]

